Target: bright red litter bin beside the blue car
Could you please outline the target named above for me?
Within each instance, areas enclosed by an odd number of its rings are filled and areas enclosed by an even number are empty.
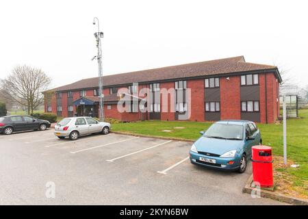
[[[272,187],[272,148],[270,146],[253,146],[253,181],[261,187]]]

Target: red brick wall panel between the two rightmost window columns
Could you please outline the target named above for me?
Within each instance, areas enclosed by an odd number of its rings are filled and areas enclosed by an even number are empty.
[[[240,76],[220,77],[220,119],[240,119]]]

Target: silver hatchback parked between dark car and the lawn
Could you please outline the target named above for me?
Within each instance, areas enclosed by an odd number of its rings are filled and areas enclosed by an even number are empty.
[[[55,136],[57,138],[70,138],[77,140],[79,136],[91,133],[102,133],[107,135],[110,132],[110,123],[101,123],[91,117],[68,117],[55,125]]]

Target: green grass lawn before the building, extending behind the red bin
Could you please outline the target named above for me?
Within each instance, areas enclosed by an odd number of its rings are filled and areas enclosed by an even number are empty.
[[[300,119],[287,120],[287,157],[290,159],[289,164],[299,164],[300,167],[285,167],[281,164],[281,157],[277,156],[277,162],[274,162],[275,181],[277,182],[275,184],[280,190],[288,190],[289,188],[293,191],[293,195],[308,198],[308,109],[299,110],[298,113]],[[210,125],[211,123],[153,120],[117,123],[112,125],[112,130],[196,140],[200,137],[199,131],[204,131]],[[258,126],[261,130],[263,143],[272,147],[274,155],[283,155],[282,123],[278,125],[258,124]],[[184,129],[179,127],[184,127]]]

